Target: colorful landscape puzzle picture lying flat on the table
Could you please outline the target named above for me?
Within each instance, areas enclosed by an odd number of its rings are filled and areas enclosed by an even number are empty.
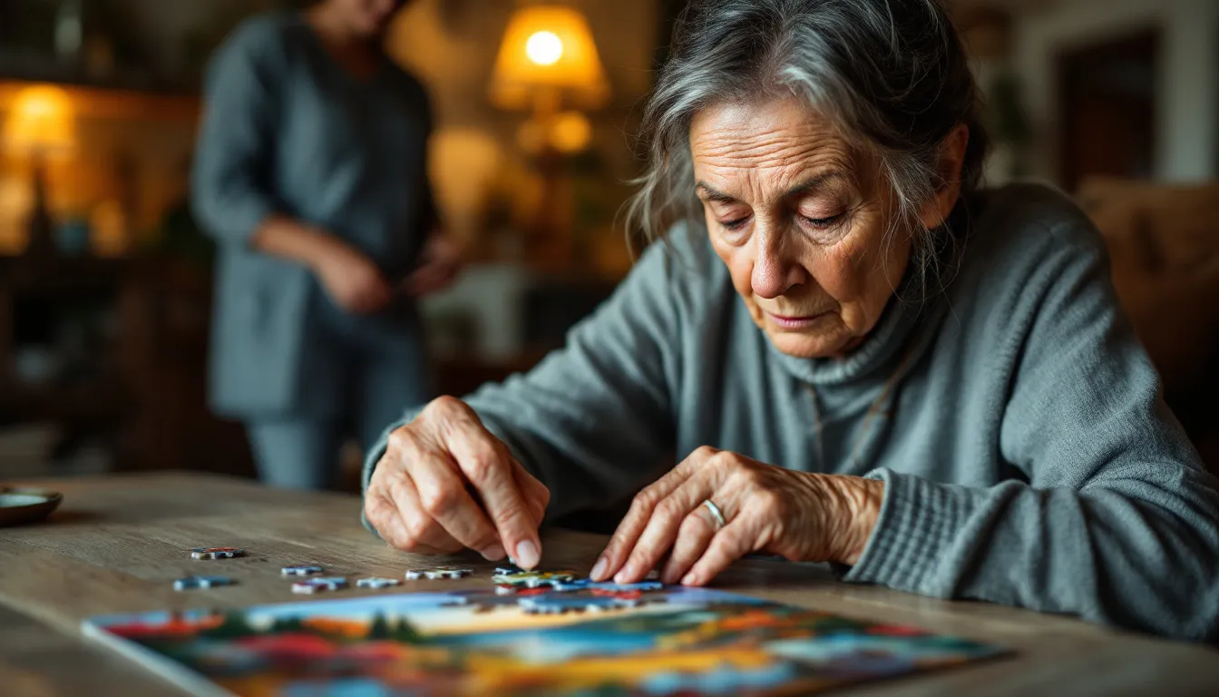
[[[806,695],[1002,653],[705,588],[528,593],[102,616],[84,632],[194,692],[249,697]]]

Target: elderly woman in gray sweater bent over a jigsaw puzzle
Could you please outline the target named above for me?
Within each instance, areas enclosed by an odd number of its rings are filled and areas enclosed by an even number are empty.
[[[695,2],[646,126],[633,210],[664,242],[533,372],[388,430],[384,540],[531,566],[544,516],[675,454],[595,579],[703,585],[762,552],[1217,634],[1217,482],[1085,216],[978,189],[976,89],[934,0]]]

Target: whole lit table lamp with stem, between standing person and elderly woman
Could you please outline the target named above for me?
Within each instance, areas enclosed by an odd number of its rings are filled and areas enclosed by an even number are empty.
[[[508,20],[489,95],[500,109],[533,115],[518,138],[536,156],[542,179],[533,253],[542,264],[568,264],[570,195],[562,190],[562,157],[591,139],[588,120],[570,110],[600,109],[610,100],[610,84],[585,17],[561,5],[518,9]]]

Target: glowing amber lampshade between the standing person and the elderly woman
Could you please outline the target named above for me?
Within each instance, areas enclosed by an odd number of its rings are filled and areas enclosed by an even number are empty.
[[[517,10],[500,45],[490,96],[513,110],[547,98],[577,109],[605,106],[610,85],[584,16],[555,5]]]

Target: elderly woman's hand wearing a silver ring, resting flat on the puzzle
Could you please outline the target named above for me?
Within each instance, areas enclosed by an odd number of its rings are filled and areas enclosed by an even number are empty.
[[[661,580],[686,586],[706,585],[753,552],[855,564],[883,496],[879,481],[785,470],[702,447],[635,497],[591,576],[633,583],[670,551]]]

